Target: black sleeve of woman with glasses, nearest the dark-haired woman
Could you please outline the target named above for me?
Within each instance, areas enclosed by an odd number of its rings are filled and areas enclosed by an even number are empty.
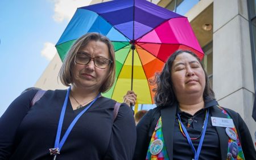
[[[136,129],[133,112],[125,103],[119,108],[114,121],[106,159],[129,160],[133,158],[136,144]]]

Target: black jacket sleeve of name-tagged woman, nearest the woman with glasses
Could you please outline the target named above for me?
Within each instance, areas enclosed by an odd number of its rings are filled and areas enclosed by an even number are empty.
[[[149,136],[152,110],[149,110],[137,124],[137,142],[134,153],[134,160],[146,159],[148,145],[151,137]]]

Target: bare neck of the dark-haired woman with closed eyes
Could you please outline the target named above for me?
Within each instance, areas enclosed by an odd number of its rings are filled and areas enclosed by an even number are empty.
[[[199,100],[188,101],[179,101],[179,107],[181,111],[194,115],[197,111],[204,108],[204,99],[203,97]]]

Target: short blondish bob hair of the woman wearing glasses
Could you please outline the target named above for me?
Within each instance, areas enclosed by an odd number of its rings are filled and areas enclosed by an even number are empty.
[[[109,77],[105,80],[105,82],[101,85],[100,92],[104,93],[107,92],[112,85],[114,84],[115,80],[115,55],[114,55],[114,47],[112,42],[109,40],[108,37],[103,36],[100,33],[86,33],[84,36],[81,36],[69,49],[67,55],[65,56],[64,62],[60,68],[59,77],[60,81],[65,86],[71,86],[73,83],[72,80],[72,69],[75,65],[75,56],[77,51],[82,46],[86,46],[90,41],[100,41],[104,42],[109,49],[110,59],[112,63],[110,63],[110,73]]]

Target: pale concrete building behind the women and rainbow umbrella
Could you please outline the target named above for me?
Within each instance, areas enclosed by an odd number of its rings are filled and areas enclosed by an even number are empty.
[[[100,3],[102,1],[92,1]],[[256,4],[245,0],[161,0],[159,6],[188,17],[201,47],[210,83],[221,106],[240,113],[254,139],[251,118],[256,86]],[[66,88],[57,81],[61,66],[52,59],[35,87]]]

